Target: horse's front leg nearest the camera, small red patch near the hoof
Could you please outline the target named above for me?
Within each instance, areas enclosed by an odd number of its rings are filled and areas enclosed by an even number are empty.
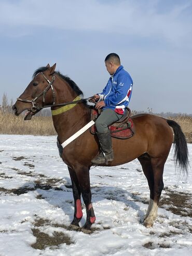
[[[76,170],[80,191],[86,206],[87,218],[85,225],[81,228],[81,231],[90,233],[91,225],[95,222],[95,215],[93,206],[91,203],[91,188],[89,178],[89,168],[82,167]]]

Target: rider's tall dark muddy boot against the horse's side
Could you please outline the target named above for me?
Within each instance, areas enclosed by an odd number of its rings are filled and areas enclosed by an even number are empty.
[[[97,132],[96,134],[98,136],[102,152],[93,158],[91,163],[94,165],[108,165],[108,161],[112,161],[114,159],[111,134],[109,130],[104,133]]]

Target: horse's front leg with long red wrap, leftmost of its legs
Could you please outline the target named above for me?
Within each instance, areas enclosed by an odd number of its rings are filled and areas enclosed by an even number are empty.
[[[74,211],[74,218],[71,223],[71,226],[74,228],[79,228],[79,221],[83,217],[83,212],[81,209],[81,201],[80,201],[80,187],[78,183],[78,179],[76,176],[76,173],[73,169],[68,167],[68,171],[70,172],[70,177],[72,181],[72,188],[73,188],[73,198],[74,198],[74,205],[75,205],[75,211]]]

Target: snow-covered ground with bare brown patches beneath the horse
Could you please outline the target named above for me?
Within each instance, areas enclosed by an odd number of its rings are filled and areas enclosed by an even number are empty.
[[[192,171],[176,174],[172,151],[153,228],[143,225],[149,188],[138,160],[90,178],[97,219],[88,235],[68,228],[73,194],[56,137],[0,135],[0,255],[192,255]]]

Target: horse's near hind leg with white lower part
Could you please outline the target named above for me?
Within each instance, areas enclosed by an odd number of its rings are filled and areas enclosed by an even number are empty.
[[[167,159],[167,157],[166,157]],[[157,218],[157,210],[159,205],[159,199],[161,196],[161,192],[163,189],[163,169],[164,163],[166,159],[162,158],[152,158],[151,164],[153,168],[153,176],[154,176],[154,196],[151,201],[151,207],[148,213],[147,218],[144,221],[144,225],[146,227],[152,227],[154,224],[155,219]]]

